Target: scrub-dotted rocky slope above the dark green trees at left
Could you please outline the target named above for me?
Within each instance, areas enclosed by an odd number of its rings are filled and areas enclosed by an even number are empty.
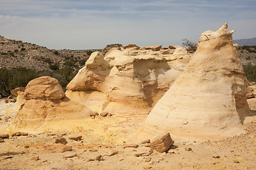
[[[90,50],[49,50],[21,40],[9,40],[0,35],[0,68],[26,67],[42,71],[50,70],[49,63],[63,68],[67,61],[72,61],[73,66],[79,68],[90,56],[88,51]]]

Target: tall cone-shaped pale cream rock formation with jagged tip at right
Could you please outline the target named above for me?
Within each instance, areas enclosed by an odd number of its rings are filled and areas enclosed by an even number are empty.
[[[243,132],[250,109],[233,32],[225,24],[215,32],[202,33],[188,66],[146,118],[144,135],[170,132],[208,140]]]

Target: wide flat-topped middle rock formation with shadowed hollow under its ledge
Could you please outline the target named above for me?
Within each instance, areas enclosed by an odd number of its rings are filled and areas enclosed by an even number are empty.
[[[66,96],[101,113],[149,113],[188,64],[185,48],[119,47],[94,52],[67,86]]]

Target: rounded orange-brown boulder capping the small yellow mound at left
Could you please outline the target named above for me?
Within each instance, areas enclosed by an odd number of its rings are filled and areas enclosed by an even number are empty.
[[[55,100],[65,96],[57,79],[52,77],[38,77],[28,82],[24,98]]]

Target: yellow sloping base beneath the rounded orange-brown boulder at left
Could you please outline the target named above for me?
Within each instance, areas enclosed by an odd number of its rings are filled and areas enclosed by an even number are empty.
[[[51,127],[49,123],[62,124],[60,120],[77,120],[88,118],[90,113],[89,108],[82,104],[70,101],[69,98],[61,98],[55,101],[43,101],[38,99],[31,99],[25,101],[21,108],[19,108],[14,121],[10,127],[12,130],[28,130],[41,131],[48,130]],[[75,125],[73,125],[75,126]],[[67,130],[72,125],[67,127]]]

